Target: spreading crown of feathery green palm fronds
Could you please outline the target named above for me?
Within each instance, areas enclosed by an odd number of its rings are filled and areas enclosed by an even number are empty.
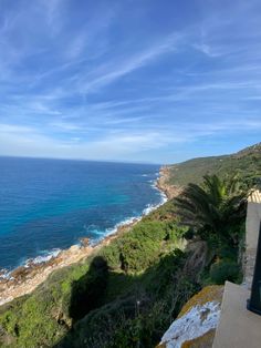
[[[246,214],[247,194],[239,187],[238,180],[217,175],[206,175],[201,186],[188,184],[175,199],[181,223],[228,237],[228,226],[238,225]]]

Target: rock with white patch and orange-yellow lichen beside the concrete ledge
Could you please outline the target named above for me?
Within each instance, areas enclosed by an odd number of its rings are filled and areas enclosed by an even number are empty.
[[[223,286],[207,286],[182,307],[158,348],[210,348],[219,321]]]

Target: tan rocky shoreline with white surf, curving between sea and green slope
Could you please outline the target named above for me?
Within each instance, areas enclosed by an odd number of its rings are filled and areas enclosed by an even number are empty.
[[[104,237],[95,244],[91,244],[88,238],[82,238],[81,245],[72,245],[67,249],[60,250],[48,260],[39,263],[34,263],[33,259],[29,260],[25,265],[19,266],[10,272],[8,277],[0,278],[0,306],[13,300],[17,297],[30,294],[54,270],[84,260],[98,252],[102,247],[108,245],[119,235],[127,233],[144,216],[157,209],[160,205],[165,204],[174,196],[173,186],[167,184],[168,177],[169,172],[167,167],[161,167],[159,171],[159,177],[154,184],[155,188],[161,193],[163,197],[158,205],[145,208],[139,217],[134,217],[126,223],[117,224],[109,234],[104,235]]]

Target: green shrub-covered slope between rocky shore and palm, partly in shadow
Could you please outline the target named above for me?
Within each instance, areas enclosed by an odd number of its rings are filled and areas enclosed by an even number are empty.
[[[184,274],[181,299],[175,290],[188,257],[180,249],[185,232],[150,217],[86,262],[54,273],[32,295],[3,306],[0,325],[14,338],[10,347],[135,347],[137,340],[153,346],[197,289]]]

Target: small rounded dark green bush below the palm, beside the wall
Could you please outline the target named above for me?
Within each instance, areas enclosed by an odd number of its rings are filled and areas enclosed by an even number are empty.
[[[238,283],[240,275],[239,265],[229,260],[216,263],[210,268],[210,278],[218,285],[223,284],[226,280]]]

